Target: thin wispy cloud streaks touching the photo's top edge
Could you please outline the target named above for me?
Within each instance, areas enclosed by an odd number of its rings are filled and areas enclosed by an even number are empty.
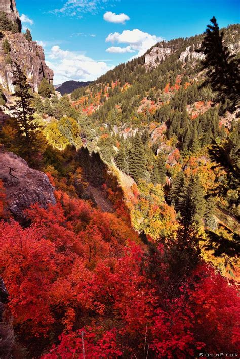
[[[60,9],[54,9],[50,12],[57,15],[82,18],[83,14],[86,13],[97,14],[109,1],[110,0],[68,0]]]

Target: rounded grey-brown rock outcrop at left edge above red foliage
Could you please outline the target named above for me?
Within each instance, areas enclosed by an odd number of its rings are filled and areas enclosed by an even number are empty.
[[[21,223],[26,219],[23,211],[31,204],[47,208],[56,203],[47,175],[29,168],[26,161],[11,152],[0,150],[0,179],[6,190],[7,208]]]

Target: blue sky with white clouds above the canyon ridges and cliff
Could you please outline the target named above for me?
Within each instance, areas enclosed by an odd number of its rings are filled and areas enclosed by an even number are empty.
[[[54,83],[94,80],[158,40],[239,22],[237,0],[17,0],[23,27],[43,44]]]

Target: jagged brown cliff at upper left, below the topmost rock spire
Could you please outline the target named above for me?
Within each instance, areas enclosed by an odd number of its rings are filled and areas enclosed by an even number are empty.
[[[3,50],[5,38],[11,47],[10,56],[13,63],[17,62],[20,65],[34,92],[38,92],[38,86],[44,77],[50,84],[53,82],[53,71],[45,63],[42,46],[37,45],[35,41],[27,41],[22,33],[5,32],[5,37],[0,40],[0,58],[3,59],[0,61],[0,84],[4,89],[14,93],[13,65],[6,64],[7,55]]]

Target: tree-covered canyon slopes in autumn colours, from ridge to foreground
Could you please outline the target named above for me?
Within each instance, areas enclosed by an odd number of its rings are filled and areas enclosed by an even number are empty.
[[[213,18],[63,97],[33,94],[16,64],[0,122],[13,159],[0,171],[0,357],[237,352],[240,26],[222,31]],[[47,174],[51,203],[25,205],[20,158]]]

